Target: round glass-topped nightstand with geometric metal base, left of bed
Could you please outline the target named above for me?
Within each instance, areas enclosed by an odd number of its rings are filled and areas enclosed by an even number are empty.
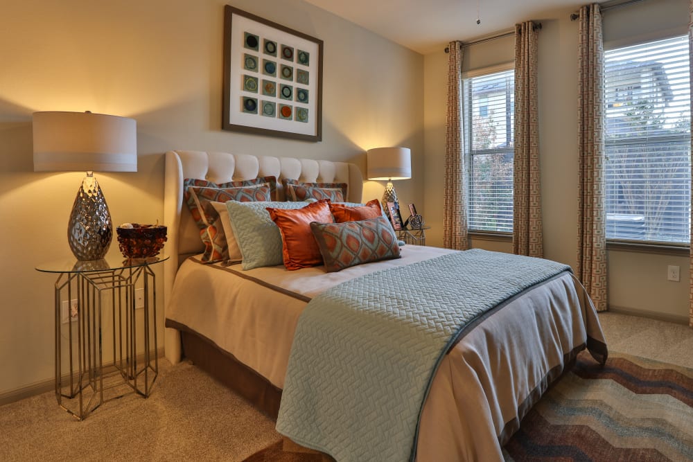
[[[156,277],[168,257],[74,258],[37,265],[55,281],[55,397],[78,420],[159,374]]]

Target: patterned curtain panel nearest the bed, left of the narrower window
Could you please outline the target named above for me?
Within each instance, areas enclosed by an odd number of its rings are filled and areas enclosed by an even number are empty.
[[[445,192],[443,195],[443,245],[466,250],[466,169],[462,149],[462,48],[448,45],[448,112],[445,124]]]

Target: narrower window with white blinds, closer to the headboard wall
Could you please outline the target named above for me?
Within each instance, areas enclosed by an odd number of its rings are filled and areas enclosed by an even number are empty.
[[[515,71],[463,80],[469,231],[513,231]]]

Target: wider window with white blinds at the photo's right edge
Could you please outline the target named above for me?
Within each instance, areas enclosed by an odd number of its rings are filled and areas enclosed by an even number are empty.
[[[606,238],[690,242],[688,37],[604,53]]]

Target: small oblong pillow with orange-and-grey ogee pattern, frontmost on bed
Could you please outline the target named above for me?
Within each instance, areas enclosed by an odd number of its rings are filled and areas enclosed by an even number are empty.
[[[358,222],[310,224],[327,272],[401,258],[397,236],[385,217]]]

